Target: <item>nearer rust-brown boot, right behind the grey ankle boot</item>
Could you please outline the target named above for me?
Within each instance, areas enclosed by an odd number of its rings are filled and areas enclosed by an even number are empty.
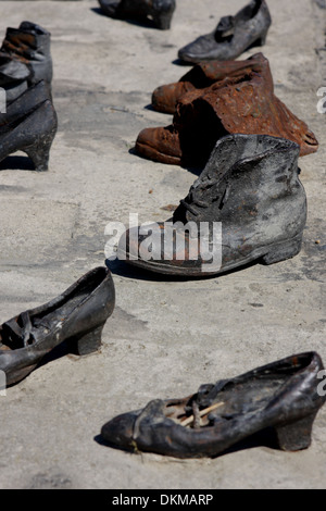
[[[136,140],[139,155],[162,163],[203,166],[216,141],[227,134],[269,135],[300,146],[300,155],[318,149],[314,134],[274,95],[268,60],[248,75],[216,82],[185,94],[173,124],[146,128]]]

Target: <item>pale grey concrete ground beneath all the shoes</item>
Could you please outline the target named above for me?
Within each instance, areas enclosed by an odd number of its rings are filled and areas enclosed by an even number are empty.
[[[322,1],[318,2],[322,5]],[[59,116],[50,170],[23,154],[1,163],[0,323],[45,303],[104,264],[109,222],[166,220],[196,174],[133,153],[140,129],[171,116],[150,110],[152,90],[189,67],[177,50],[212,30],[241,0],[177,0],[171,30],[100,15],[97,0],[1,1],[7,26],[36,22],[52,34]],[[326,407],[312,446],[281,452],[251,446],[216,459],[130,454],[101,445],[101,426],[153,398],[184,397],[325,345],[326,11],[313,0],[268,0],[264,54],[277,96],[315,133],[300,159],[309,216],[302,251],[275,265],[173,281],[113,264],[116,307],[100,353],[58,358],[0,396],[1,488],[325,488]],[[256,49],[244,53],[252,54]]]

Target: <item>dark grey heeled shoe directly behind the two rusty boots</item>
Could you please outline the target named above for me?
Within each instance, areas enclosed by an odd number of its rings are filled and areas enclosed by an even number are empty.
[[[224,16],[210,34],[178,51],[186,62],[234,60],[253,46],[265,45],[272,18],[265,0],[251,0],[235,16]]]

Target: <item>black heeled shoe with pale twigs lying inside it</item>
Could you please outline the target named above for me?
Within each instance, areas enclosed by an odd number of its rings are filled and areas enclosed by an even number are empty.
[[[316,352],[294,354],[203,385],[186,398],[150,401],[142,410],[112,419],[101,435],[110,446],[134,452],[201,458],[273,428],[280,449],[305,449],[326,399],[318,394],[322,370]]]

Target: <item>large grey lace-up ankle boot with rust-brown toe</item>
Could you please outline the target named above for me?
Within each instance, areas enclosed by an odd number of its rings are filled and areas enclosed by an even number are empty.
[[[173,217],[126,230],[118,259],[201,277],[297,256],[306,221],[299,152],[297,144],[267,135],[222,138]]]

